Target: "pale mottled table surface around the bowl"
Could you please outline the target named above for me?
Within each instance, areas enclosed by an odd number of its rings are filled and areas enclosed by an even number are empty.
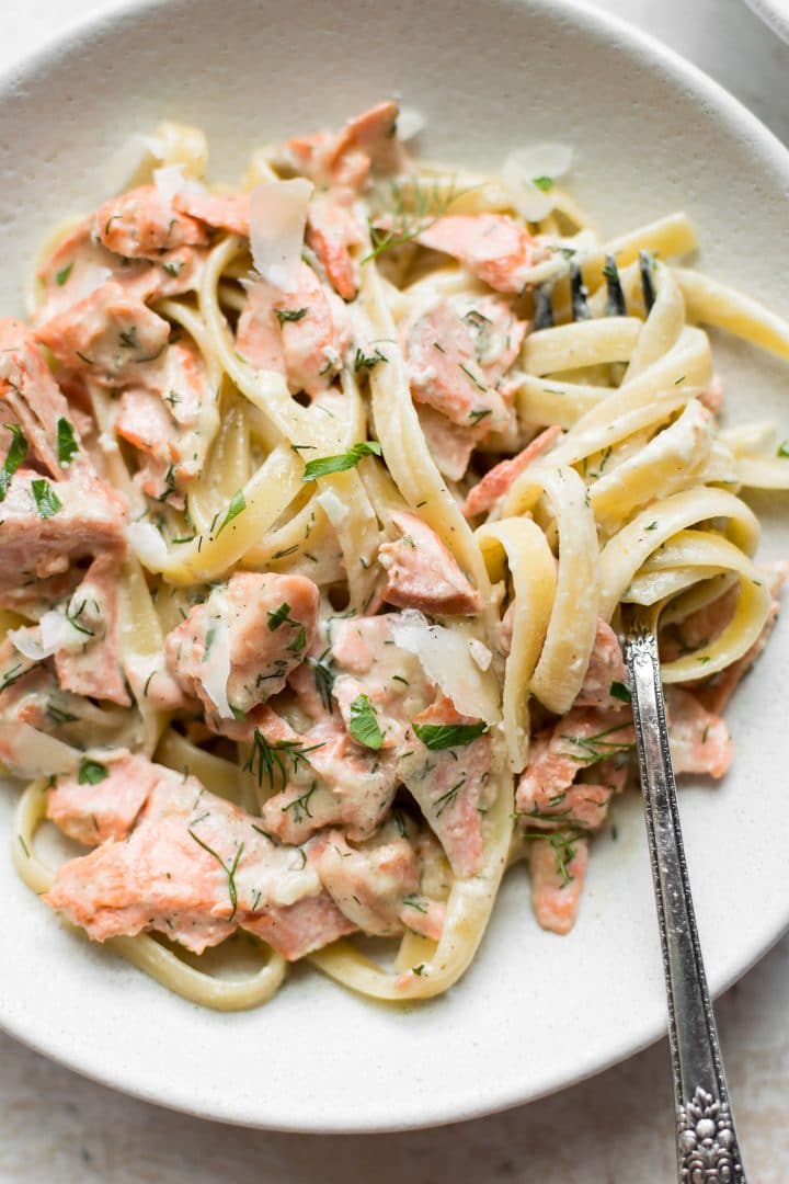
[[[0,66],[109,7],[111,0],[6,0]],[[789,47],[741,0],[600,0],[600,7],[691,58],[789,143]],[[788,1005],[789,937],[717,1009],[751,1184],[789,1179]],[[13,1184],[670,1184],[673,1157],[665,1043],[506,1114],[409,1134],[303,1137],[132,1101],[0,1035],[0,1180]]]

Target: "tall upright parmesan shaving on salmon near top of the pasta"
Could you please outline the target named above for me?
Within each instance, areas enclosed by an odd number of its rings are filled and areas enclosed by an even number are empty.
[[[312,184],[303,176],[267,181],[250,195],[250,244],[257,271],[277,288],[298,281]]]

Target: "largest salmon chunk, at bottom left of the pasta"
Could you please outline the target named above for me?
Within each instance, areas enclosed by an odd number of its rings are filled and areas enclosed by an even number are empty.
[[[305,852],[274,845],[253,817],[195,777],[151,768],[154,785],[127,838],[60,867],[48,905],[96,941],[156,929],[194,953],[241,926],[296,958],[353,928],[330,907]]]

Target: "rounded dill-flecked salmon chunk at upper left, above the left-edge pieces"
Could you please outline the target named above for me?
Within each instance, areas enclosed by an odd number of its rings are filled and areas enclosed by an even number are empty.
[[[82,367],[109,387],[144,381],[169,334],[168,322],[115,279],[35,330],[64,366]]]

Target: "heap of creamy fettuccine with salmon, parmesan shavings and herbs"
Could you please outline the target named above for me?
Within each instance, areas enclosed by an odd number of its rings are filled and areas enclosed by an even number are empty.
[[[235,188],[162,124],[0,322],[14,866],[209,1008],[304,959],[439,995],[520,860],[567,933],[634,783],[628,613],[677,773],[719,778],[777,612],[744,496],[789,446],[723,425],[706,327],[785,359],[789,324],[678,265],[685,214],[601,240],[562,146],[474,175],[396,121],[259,147]]]

